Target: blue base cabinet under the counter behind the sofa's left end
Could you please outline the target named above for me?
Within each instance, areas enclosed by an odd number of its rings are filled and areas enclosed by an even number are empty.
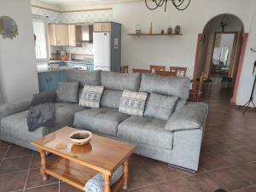
[[[67,81],[66,71],[38,73],[38,82],[40,92],[56,90],[59,82]]]

